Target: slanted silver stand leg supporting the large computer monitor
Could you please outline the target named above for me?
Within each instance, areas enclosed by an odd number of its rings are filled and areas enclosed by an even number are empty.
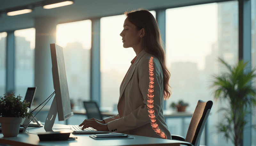
[[[48,115],[47,115],[45,123],[44,123],[44,130],[46,132],[53,131],[52,127],[53,127],[54,121],[56,119],[56,116],[57,116],[57,99],[56,99],[56,95],[55,95],[52,100],[52,105],[50,107],[50,110],[48,112]]]

